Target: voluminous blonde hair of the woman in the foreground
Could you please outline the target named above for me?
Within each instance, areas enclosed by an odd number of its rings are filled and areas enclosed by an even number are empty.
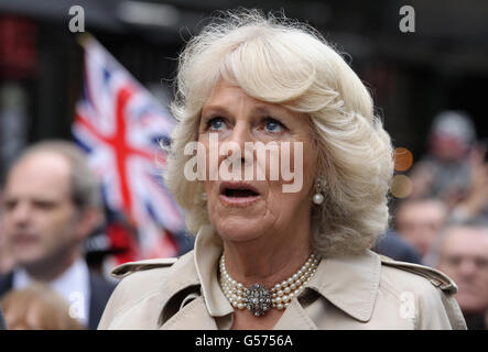
[[[221,12],[180,56],[171,109],[167,187],[187,210],[191,232],[208,223],[203,185],[183,175],[197,140],[199,113],[225,79],[249,96],[304,112],[318,148],[317,179],[325,201],[313,210],[313,245],[323,256],[371,248],[388,224],[392,146],[373,113],[371,97],[343,57],[312,28],[258,10]]]

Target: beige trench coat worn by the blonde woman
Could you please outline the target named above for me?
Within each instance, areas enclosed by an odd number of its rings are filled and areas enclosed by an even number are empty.
[[[221,242],[212,227],[176,260],[123,264],[99,329],[230,329],[234,309],[217,280]],[[371,251],[325,258],[274,329],[466,329],[444,274]]]

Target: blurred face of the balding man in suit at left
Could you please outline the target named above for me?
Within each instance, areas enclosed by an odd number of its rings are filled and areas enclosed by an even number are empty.
[[[63,156],[37,152],[10,172],[3,197],[4,231],[17,263],[35,266],[72,253],[77,211],[71,197],[71,165]]]

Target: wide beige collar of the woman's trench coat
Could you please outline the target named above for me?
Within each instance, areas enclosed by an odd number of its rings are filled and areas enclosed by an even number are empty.
[[[163,287],[162,296],[165,298],[162,310],[177,293],[189,286],[199,286],[204,297],[199,304],[205,305],[209,316],[224,317],[232,314],[234,308],[217,279],[221,251],[221,240],[214,228],[203,227],[197,233],[194,251],[184,255],[172,267],[171,279]],[[306,287],[350,317],[368,321],[375,307],[380,271],[380,257],[369,250],[358,255],[324,258]]]

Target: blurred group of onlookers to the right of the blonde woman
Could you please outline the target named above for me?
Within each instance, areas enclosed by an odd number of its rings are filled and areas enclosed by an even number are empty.
[[[427,146],[409,173],[412,190],[392,207],[392,229],[376,250],[447,274],[458,286],[468,328],[487,329],[487,148],[463,111],[436,116]]]

